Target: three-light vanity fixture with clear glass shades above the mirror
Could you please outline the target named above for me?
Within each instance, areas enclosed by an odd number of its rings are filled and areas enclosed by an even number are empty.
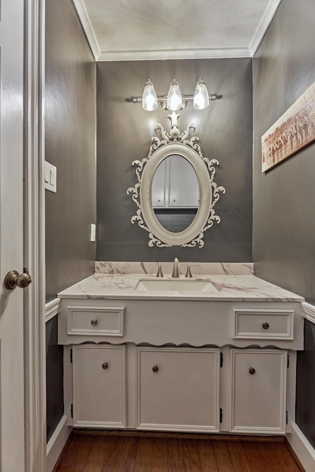
[[[187,102],[193,100],[193,108],[203,110],[209,106],[209,100],[215,100],[217,95],[209,95],[204,80],[200,77],[197,82],[194,95],[185,96],[181,94],[178,82],[174,79],[168,90],[168,94],[163,97],[157,97],[156,91],[150,79],[147,80],[143,96],[133,97],[131,101],[134,103],[142,103],[142,108],[146,111],[153,111],[158,108],[160,102],[163,110],[183,110],[187,106]],[[130,100],[130,99],[129,99]]]

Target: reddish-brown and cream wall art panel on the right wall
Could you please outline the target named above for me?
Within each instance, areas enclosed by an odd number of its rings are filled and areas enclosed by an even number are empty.
[[[315,140],[315,83],[261,138],[262,172]]]

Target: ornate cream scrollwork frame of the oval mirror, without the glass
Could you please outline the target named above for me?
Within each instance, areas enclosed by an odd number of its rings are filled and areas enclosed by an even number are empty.
[[[215,214],[215,204],[220,198],[220,193],[225,193],[222,186],[214,181],[217,159],[209,160],[204,157],[198,144],[199,138],[192,136],[188,139],[190,128],[195,129],[195,124],[190,123],[182,133],[178,129],[177,118],[179,114],[173,112],[168,115],[171,119],[172,129],[167,133],[162,125],[155,124],[160,137],[153,136],[149,154],[142,161],[133,161],[136,166],[137,183],[129,187],[127,194],[132,194],[132,200],[137,206],[137,211],[131,218],[131,223],[138,222],[140,228],[149,233],[149,246],[155,244],[158,247],[195,247],[204,246],[203,235],[212,227],[214,221],[220,223],[220,216]],[[152,181],[159,164],[168,156],[179,155],[189,161],[193,167],[199,184],[199,207],[195,219],[190,226],[181,233],[172,233],[166,230],[159,222],[152,206]]]

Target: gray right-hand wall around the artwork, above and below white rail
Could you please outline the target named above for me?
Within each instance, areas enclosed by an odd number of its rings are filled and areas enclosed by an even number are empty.
[[[314,0],[282,0],[253,63],[255,275],[315,303],[315,143],[261,173],[261,136],[315,81]],[[306,324],[306,338],[311,338]],[[315,445],[313,354],[298,354],[296,417]],[[308,359],[308,360],[307,360]],[[308,402],[305,399],[308,398]]]

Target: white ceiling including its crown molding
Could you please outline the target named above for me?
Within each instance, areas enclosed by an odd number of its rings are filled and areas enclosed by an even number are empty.
[[[252,57],[280,0],[73,0],[96,60]]]

